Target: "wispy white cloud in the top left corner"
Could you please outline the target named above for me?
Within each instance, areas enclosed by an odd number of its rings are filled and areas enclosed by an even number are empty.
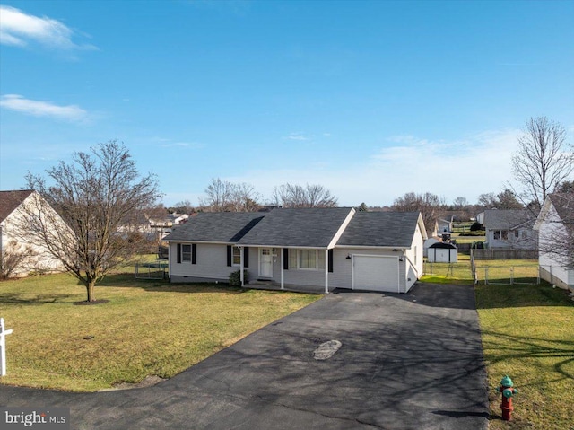
[[[20,9],[0,5],[0,43],[25,47],[38,42],[50,48],[76,49],[92,45],[77,45],[72,41],[74,31],[62,22],[46,16],[38,17],[23,13]]]

